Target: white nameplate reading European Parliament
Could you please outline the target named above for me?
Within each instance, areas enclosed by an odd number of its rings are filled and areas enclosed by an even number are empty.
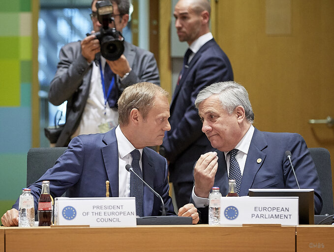
[[[298,225],[298,197],[221,197],[220,224]]]

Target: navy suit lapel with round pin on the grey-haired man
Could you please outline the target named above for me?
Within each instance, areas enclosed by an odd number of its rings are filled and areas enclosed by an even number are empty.
[[[248,189],[251,188],[258,170],[261,168],[266,154],[262,152],[266,148],[267,142],[261,131],[255,129],[250,142],[246,163],[243,169],[243,179],[240,187],[240,196],[248,195]]]

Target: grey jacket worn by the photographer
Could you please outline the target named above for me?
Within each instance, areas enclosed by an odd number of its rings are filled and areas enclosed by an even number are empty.
[[[119,91],[142,81],[160,85],[154,55],[126,41],[124,48],[123,54],[132,71],[122,81],[116,78]],[[49,101],[55,106],[67,101],[65,127],[56,143],[56,146],[61,147],[67,146],[70,136],[80,123],[89,95],[92,65],[82,56],[80,41],[64,45],[59,59],[56,75],[50,83]]]

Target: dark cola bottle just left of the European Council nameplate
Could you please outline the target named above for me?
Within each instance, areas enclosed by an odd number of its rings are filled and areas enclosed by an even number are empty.
[[[42,182],[42,192],[38,200],[38,226],[51,226],[52,212],[50,181],[46,180]]]

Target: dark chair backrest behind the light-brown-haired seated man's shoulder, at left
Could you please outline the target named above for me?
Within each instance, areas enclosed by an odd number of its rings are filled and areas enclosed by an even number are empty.
[[[67,147],[31,148],[27,154],[27,186],[53,167],[66,149]]]

